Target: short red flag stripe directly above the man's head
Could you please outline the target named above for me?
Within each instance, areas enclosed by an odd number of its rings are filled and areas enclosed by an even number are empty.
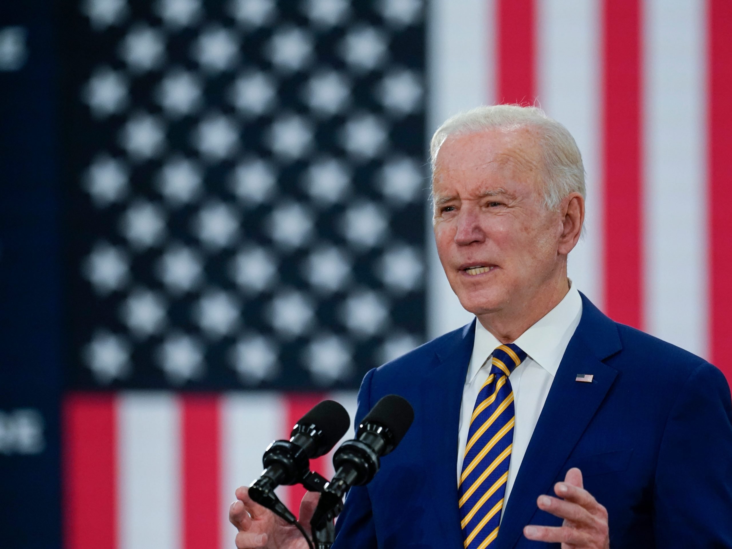
[[[498,0],[496,6],[496,98],[534,104],[536,86],[535,0]]]

